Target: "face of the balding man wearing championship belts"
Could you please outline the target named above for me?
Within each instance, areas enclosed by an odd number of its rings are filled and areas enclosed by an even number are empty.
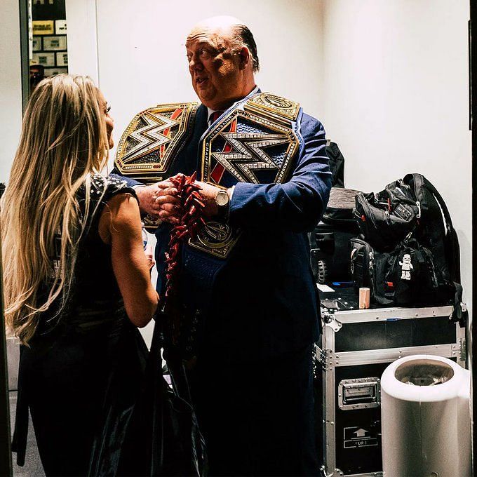
[[[186,49],[192,86],[203,105],[227,109],[243,98],[245,80],[229,32],[196,27],[187,37]]]

